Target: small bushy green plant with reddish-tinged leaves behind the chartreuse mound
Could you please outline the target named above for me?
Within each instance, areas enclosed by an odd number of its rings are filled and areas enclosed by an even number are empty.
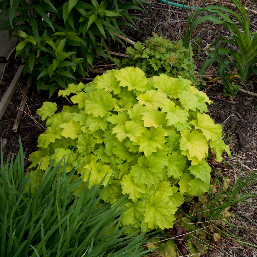
[[[183,42],[171,42],[156,33],[153,35],[144,43],[136,42],[134,48],[128,47],[126,54],[131,58],[123,59],[122,65],[118,67],[139,67],[148,77],[164,73],[170,77],[181,76],[194,81],[195,65],[191,65],[189,50],[182,46]]]

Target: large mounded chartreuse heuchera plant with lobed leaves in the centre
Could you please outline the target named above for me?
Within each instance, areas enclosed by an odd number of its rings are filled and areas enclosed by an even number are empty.
[[[73,106],[57,110],[45,102],[37,113],[47,117],[39,136],[39,151],[31,167],[44,170],[51,159],[66,154],[66,171],[76,169],[89,186],[111,178],[102,199],[115,202],[128,194],[130,209],[122,225],[135,230],[170,228],[185,196],[199,196],[210,184],[205,159],[210,148],[222,160],[229,147],[221,126],[207,111],[211,103],[191,81],[162,74],[146,78],[139,68],[107,71],[87,85],[70,84],[59,91]],[[141,201],[140,201],[141,200]]]

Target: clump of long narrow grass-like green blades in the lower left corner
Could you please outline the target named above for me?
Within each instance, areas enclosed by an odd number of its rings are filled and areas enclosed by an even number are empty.
[[[10,163],[4,163],[1,151],[1,256],[139,257],[148,252],[142,247],[144,233],[124,236],[126,228],[119,227],[126,197],[113,205],[99,204],[108,188],[101,187],[104,178],[87,188],[74,171],[66,175],[63,159],[54,167],[51,162],[44,173],[24,176],[20,146]]]

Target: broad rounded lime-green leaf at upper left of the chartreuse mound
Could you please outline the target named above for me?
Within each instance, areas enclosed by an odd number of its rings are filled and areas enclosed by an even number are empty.
[[[105,93],[102,89],[97,89],[95,92],[88,95],[85,101],[85,112],[92,114],[93,117],[104,117],[108,111],[114,108],[116,100],[111,93]]]

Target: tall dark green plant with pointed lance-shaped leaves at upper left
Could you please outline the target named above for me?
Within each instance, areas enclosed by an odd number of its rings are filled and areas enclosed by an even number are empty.
[[[16,56],[28,63],[24,74],[30,73],[38,91],[49,90],[51,96],[58,86],[66,89],[69,83],[77,82],[76,77],[85,77],[85,70],[99,55],[107,59],[106,40],[123,44],[117,36],[125,36],[119,26],[133,27],[133,19],[138,18],[129,15],[128,10],[142,10],[139,6],[144,2],[3,0],[0,30],[8,30],[9,36],[22,40]]]

